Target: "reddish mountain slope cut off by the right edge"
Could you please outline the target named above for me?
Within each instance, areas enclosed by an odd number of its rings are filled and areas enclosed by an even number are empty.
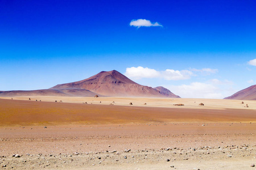
[[[236,94],[233,94],[229,97],[225,97],[224,99],[256,100],[256,85],[238,91],[236,92]]]

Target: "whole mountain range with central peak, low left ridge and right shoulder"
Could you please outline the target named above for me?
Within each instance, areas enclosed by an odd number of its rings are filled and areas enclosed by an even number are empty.
[[[179,97],[164,87],[148,87],[135,83],[116,70],[101,71],[87,79],[57,84],[46,90],[0,91],[0,96],[116,96]]]

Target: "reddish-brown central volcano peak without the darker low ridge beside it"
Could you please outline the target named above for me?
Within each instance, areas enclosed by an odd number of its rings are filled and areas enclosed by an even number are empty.
[[[100,73],[91,76],[78,82],[58,84],[50,88],[51,90],[58,89],[86,89],[96,94],[104,96],[127,96],[127,97],[179,97],[167,96],[152,87],[142,86],[133,82],[125,75],[116,70],[101,71]]]

